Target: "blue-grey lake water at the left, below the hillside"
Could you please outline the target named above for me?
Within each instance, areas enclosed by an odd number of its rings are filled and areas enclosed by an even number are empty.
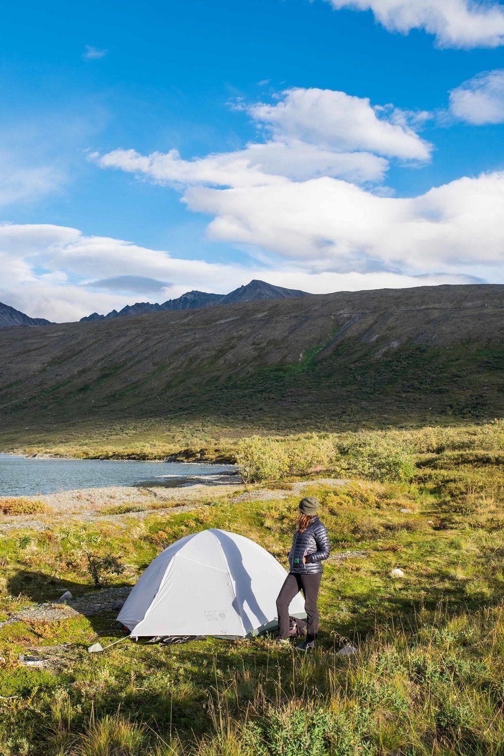
[[[193,476],[230,474],[233,465],[122,460],[47,460],[0,454],[0,496],[33,496],[109,485],[187,485]],[[211,480],[211,479],[209,479]]]

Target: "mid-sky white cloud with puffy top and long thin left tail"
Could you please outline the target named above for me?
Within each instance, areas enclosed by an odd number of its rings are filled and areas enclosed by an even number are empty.
[[[389,158],[425,161],[431,154],[431,145],[411,125],[421,125],[428,114],[372,107],[367,98],[345,92],[292,88],[274,104],[255,104],[247,110],[265,139],[243,150],[184,160],[178,150],[141,155],[119,149],[91,153],[90,159],[102,168],[175,187],[254,187],[318,176],[376,184],[385,178]]]

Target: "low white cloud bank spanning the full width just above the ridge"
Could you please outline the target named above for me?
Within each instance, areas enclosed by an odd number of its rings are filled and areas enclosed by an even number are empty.
[[[159,301],[194,288],[227,293],[252,278],[312,293],[475,277],[504,282],[503,200],[500,173],[461,178],[411,199],[379,197],[333,178],[190,188],[190,208],[215,215],[213,238],[268,251],[249,265],[178,259],[63,226],[0,225],[0,300],[32,317],[76,320],[131,304],[131,295],[103,291],[103,280],[118,271],[171,281]]]

